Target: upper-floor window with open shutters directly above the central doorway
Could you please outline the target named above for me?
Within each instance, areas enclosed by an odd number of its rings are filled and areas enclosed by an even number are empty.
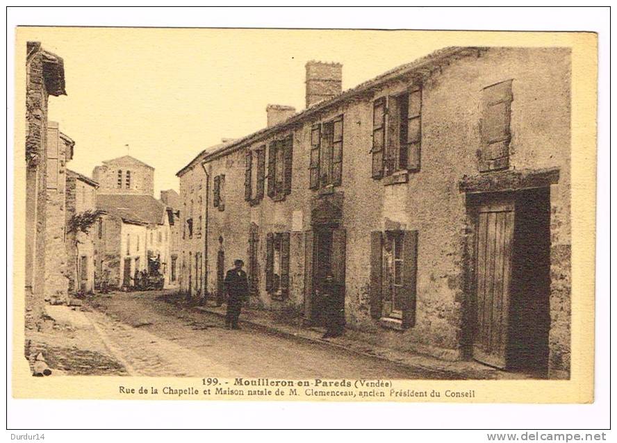
[[[311,189],[338,186],[343,174],[343,115],[311,128]]]

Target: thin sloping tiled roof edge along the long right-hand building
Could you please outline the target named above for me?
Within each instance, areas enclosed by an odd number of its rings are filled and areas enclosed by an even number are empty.
[[[372,90],[372,88],[379,87],[380,85],[383,85],[388,81],[393,81],[397,78],[402,78],[404,76],[425,76],[426,74],[434,72],[436,69],[440,69],[442,65],[449,64],[450,59],[452,58],[468,56],[474,53],[477,54],[479,53],[479,51],[484,50],[486,50],[486,48],[483,47],[446,47],[443,49],[439,49],[438,51],[429,53],[427,56],[417,58],[416,60],[413,60],[413,62],[409,62],[404,65],[395,67],[394,69],[390,69],[389,71],[384,72],[384,74],[380,74],[379,76],[360,83],[359,85],[352,87],[349,90],[343,91],[335,97],[332,97],[331,99],[325,99],[318,103],[315,103],[312,106],[309,106],[309,108],[297,112],[297,114],[292,115],[291,117],[279,124],[270,126],[268,128],[263,128],[259,131],[256,131],[255,133],[239,138],[238,140],[234,140],[233,142],[224,146],[217,146],[206,149],[206,151],[208,152],[202,151],[199,156],[201,156],[201,154],[204,154],[205,152],[205,155],[203,157],[204,161],[213,160],[220,156],[225,156],[228,153],[242,148],[246,144],[257,142],[258,140],[268,137],[268,135],[272,135],[274,133],[277,133],[278,131],[284,130],[292,124],[297,124],[303,119],[311,117],[322,110],[326,110],[327,108],[331,108],[333,106],[338,106],[340,103],[352,99],[359,94],[363,94],[364,92],[368,92]],[[197,158],[199,158],[199,156],[197,156]],[[197,158],[195,160],[197,160]],[[181,169],[181,172],[182,171],[183,169]]]

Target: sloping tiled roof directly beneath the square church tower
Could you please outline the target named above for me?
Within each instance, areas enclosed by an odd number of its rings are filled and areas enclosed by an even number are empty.
[[[163,224],[166,206],[151,195],[98,194],[97,209],[124,220],[145,224]]]

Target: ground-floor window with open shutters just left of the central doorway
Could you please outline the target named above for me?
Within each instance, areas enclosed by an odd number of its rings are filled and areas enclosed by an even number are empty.
[[[289,295],[289,233],[266,237],[265,290],[272,296]]]

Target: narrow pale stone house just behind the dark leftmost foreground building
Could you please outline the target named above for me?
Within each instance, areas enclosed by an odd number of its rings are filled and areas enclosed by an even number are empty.
[[[60,132],[58,123],[47,124],[47,210],[45,240],[45,301],[67,303],[69,296],[66,253],[67,169],[75,142]]]

